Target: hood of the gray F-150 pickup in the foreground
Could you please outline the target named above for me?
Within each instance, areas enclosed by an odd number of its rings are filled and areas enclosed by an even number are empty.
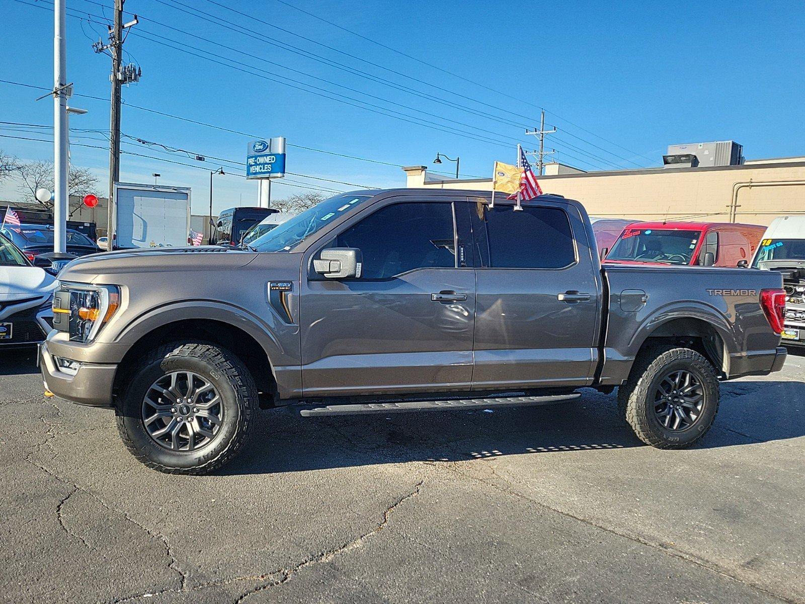
[[[102,283],[107,275],[179,271],[229,271],[244,267],[254,252],[218,246],[156,247],[90,254],[73,260],[59,273],[60,281]]]

